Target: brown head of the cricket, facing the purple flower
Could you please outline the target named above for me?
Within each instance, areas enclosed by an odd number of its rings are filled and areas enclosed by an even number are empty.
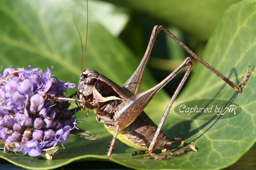
[[[93,89],[97,82],[100,73],[92,69],[86,69],[82,72],[78,82],[78,98],[87,100],[89,103],[93,101]],[[85,110],[86,104],[80,103],[80,106]],[[91,108],[88,108],[91,109]]]

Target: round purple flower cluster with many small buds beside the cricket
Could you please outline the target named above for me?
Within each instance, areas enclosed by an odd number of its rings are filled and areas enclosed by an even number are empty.
[[[65,143],[76,124],[68,102],[44,96],[64,97],[63,92],[75,84],[58,81],[51,76],[52,69],[29,68],[10,66],[0,74],[0,140],[24,154],[39,156],[42,150]]]

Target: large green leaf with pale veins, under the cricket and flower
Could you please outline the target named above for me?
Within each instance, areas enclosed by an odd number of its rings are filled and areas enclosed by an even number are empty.
[[[89,3],[90,6],[90,3]],[[218,99],[232,101],[242,107],[242,113],[230,119],[199,121],[176,115],[172,107],[163,131],[169,137],[181,137],[187,145],[191,142],[198,152],[156,161],[143,158],[144,155],[130,156],[136,149],[117,141],[112,158],[106,156],[112,135],[102,123],[95,120],[93,112],[86,117],[86,111],[78,112],[77,119],[82,129],[99,134],[96,141],[70,135],[64,144],[65,150],[53,159],[17,156],[0,152],[0,157],[24,168],[52,169],[73,161],[106,160],[135,169],[221,169],[236,162],[256,141],[255,132],[255,8],[256,1],[242,1],[231,6],[224,13],[214,35],[210,38],[204,53],[204,60],[230,80],[239,83],[246,75],[249,64],[252,75],[237,94],[230,86],[210,70],[197,63],[193,68],[186,89],[174,105],[196,99]],[[82,39],[86,34],[85,1],[1,1],[0,15],[0,63],[3,68],[54,66],[53,74],[66,82],[78,82],[81,72],[81,48],[72,12],[80,27]],[[90,8],[89,8],[90,10]],[[93,14],[91,14],[93,15]],[[150,37],[150,35],[148,35]],[[104,74],[117,84],[124,84],[138,66],[132,53],[123,43],[108,33],[97,21],[90,19],[85,67]],[[194,62],[196,63],[196,61]],[[156,83],[146,71],[141,91]],[[176,87],[174,87],[176,88]],[[70,90],[72,94],[75,90]],[[145,112],[158,123],[168,100],[162,90],[146,107]],[[74,107],[76,105],[74,104]],[[185,146],[188,147],[188,146]],[[172,146],[172,151],[182,147]],[[159,152],[156,152],[159,153]],[[160,155],[162,153],[159,153]]]

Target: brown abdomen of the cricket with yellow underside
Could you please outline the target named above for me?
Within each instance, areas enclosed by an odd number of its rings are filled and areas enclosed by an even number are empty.
[[[115,128],[105,127],[114,135]],[[148,150],[148,147],[156,133],[157,125],[143,111],[128,127],[118,132],[117,139],[130,147],[139,150]],[[154,149],[162,149],[168,147],[170,139],[161,131]]]

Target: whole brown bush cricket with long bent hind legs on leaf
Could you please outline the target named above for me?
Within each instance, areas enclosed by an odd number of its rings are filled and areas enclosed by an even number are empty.
[[[95,70],[84,70],[84,62],[82,62],[82,74],[78,83],[77,99],[56,98],[50,96],[49,94],[46,95],[48,98],[54,98],[54,100],[69,100],[78,102],[84,110],[86,110],[86,108],[88,110],[94,109],[97,121],[104,123],[106,129],[114,136],[108,150],[108,156],[111,156],[112,154],[116,139],[119,139],[123,143],[126,143],[127,145],[138,150],[147,150],[146,153],[148,153],[148,156],[145,156],[145,158],[153,156],[156,160],[162,160],[167,156],[166,154],[163,156],[154,154],[154,149],[166,149],[170,145],[180,143],[175,142],[180,138],[169,139],[161,129],[174,100],[176,99],[180,89],[191,72],[193,66],[192,59],[187,57],[169,76],[162,80],[162,82],[153,88],[140,93],[144,69],[146,67],[146,63],[156,36],[160,31],[164,31],[164,33],[174,39],[174,41],[184,48],[192,57],[214,72],[217,76],[222,78],[227,84],[238,91],[238,93],[241,93],[241,86],[246,85],[246,82],[251,74],[249,72],[251,65],[249,65],[244,80],[240,82],[240,84],[236,85],[228,78],[223,76],[220,72],[212,68],[212,66],[200,59],[200,57],[186,47],[186,45],[184,45],[176,36],[168,31],[168,29],[158,25],[154,26],[153,28],[146,53],[140,65],[122,87]],[[164,116],[160,121],[160,124],[157,126],[143,110],[152,100],[154,95],[186,66],[188,66],[186,73],[178,85],[178,88],[174,92],[174,95],[166,108]],[[89,112],[87,112],[87,115],[88,113]]]

